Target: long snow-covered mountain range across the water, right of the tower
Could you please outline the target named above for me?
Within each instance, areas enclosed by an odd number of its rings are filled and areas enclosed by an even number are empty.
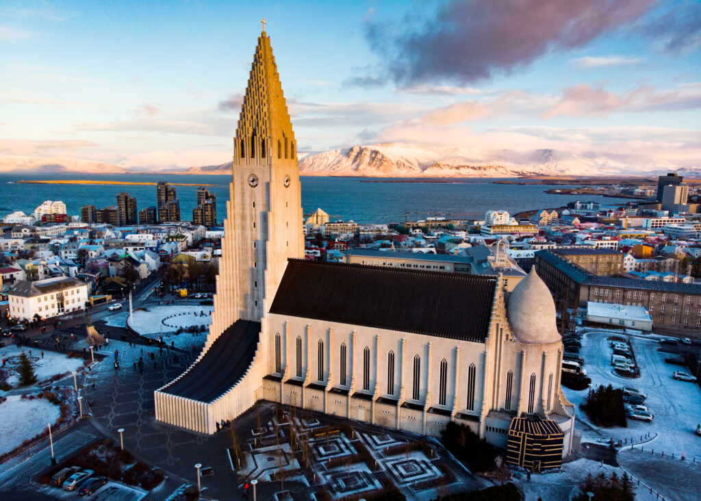
[[[635,165],[606,156],[583,157],[567,151],[536,149],[437,148],[383,143],[353,146],[307,156],[299,163],[306,176],[367,177],[516,177],[522,175],[602,176],[647,174],[679,169],[654,159]],[[693,168],[691,169],[693,170]]]

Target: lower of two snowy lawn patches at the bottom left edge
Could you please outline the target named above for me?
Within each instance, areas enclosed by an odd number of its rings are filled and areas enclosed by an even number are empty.
[[[46,399],[22,400],[20,395],[10,395],[0,404],[0,454],[36,437],[49,423],[53,425],[60,415],[60,409]]]

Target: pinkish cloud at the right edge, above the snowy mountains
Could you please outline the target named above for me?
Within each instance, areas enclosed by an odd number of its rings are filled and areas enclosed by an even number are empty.
[[[606,116],[617,112],[672,111],[701,107],[701,83],[687,83],[672,90],[654,90],[646,85],[630,92],[610,92],[583,83],[564,90],[562,97],[543,118]]]

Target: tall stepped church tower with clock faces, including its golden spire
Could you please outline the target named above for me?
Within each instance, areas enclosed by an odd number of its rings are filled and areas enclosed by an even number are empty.
[[[239,319],[260,322],[287,259],[304,257],[297,142],[265,31],[258,38],[233,138],[226,208],[214,337]]]

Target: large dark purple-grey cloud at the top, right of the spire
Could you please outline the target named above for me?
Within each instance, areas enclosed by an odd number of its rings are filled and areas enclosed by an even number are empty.
[[[431,20],[366,22],[367,41],[400,85],[489,78],[549,51],[585,46],[641,18],[654,0],[453,0]],[[418,26],[418,27],[417,27]]]

